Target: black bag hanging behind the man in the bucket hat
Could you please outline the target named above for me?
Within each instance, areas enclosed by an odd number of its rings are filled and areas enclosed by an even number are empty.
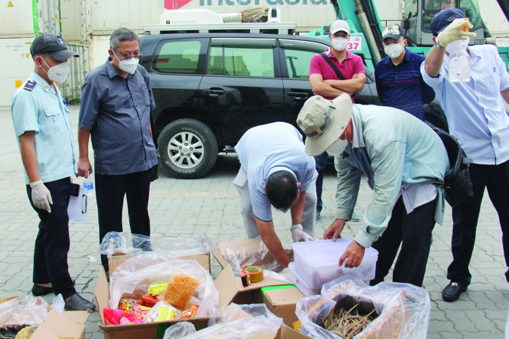
[[[468,166],[472,159],[467,158],[465,151],[461,148],[460,142],[454,135],[434,127],[447,151],[450,169],[444,176],[445,200],[451,207],[469,202],[474,199],[472,180]]]

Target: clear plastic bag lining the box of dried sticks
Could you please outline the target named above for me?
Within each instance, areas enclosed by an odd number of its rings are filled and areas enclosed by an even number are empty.
[[[320,325],[334,307],[350,309],[355,304],[364,313],[376,309],[378,317],[354,338],[424,338],[428,333],[431,300],[428,291],[402,283],[382,282],[369,287],[346,275],[322,287],[322,294],[302,298],[295,314],[300,332],[315,338],[340,338]]]

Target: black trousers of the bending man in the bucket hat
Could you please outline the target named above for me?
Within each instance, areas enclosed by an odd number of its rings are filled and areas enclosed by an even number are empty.
[[[371,280],[370,285],[384,281],[401,244],[392,281],[422,286],[435,227],[435,207],[436,199],[407,214],[403,196],[400,196],[392,209],[387,229],[373,243],[373,248],[378,250],[378,262],[375,279]]]

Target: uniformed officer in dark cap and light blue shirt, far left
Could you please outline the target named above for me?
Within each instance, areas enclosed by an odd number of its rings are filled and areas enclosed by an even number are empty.
[[[69,109],[54,81],[64,82],[67,60],[79,55],[54,34],[41,34],[30,47],[35,69],[11,100],[11,114],[18,140],[26,192],[39,215],[34,248],[35,296],[62,294],[68,310],[95,309],[74,289],[69,275],[69,204],[71,176],[77,161]]]

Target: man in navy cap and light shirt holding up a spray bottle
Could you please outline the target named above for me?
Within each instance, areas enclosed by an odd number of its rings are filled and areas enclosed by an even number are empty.
[[[473,45],[467,48],[469,81],[449,80],[451,43],[475,36],[463,30],[465,26],[472,28],[465,17],[457,8],[435,14],[430,24],[435,45],[420,68],[424,81],[437,93],[450,134],[458,138],[473,160],[469,171],[474,198],[453,208],[453,262],[447,268],[449,284],[442,291],[445,301],[458,300],[470,285],[468,266],[486,189],[498,213],[505,264],[509,267],[509,117],[502,101],[509,103],[509,73],[496,46]],[[509,270],[505,279],[509,281]]]

